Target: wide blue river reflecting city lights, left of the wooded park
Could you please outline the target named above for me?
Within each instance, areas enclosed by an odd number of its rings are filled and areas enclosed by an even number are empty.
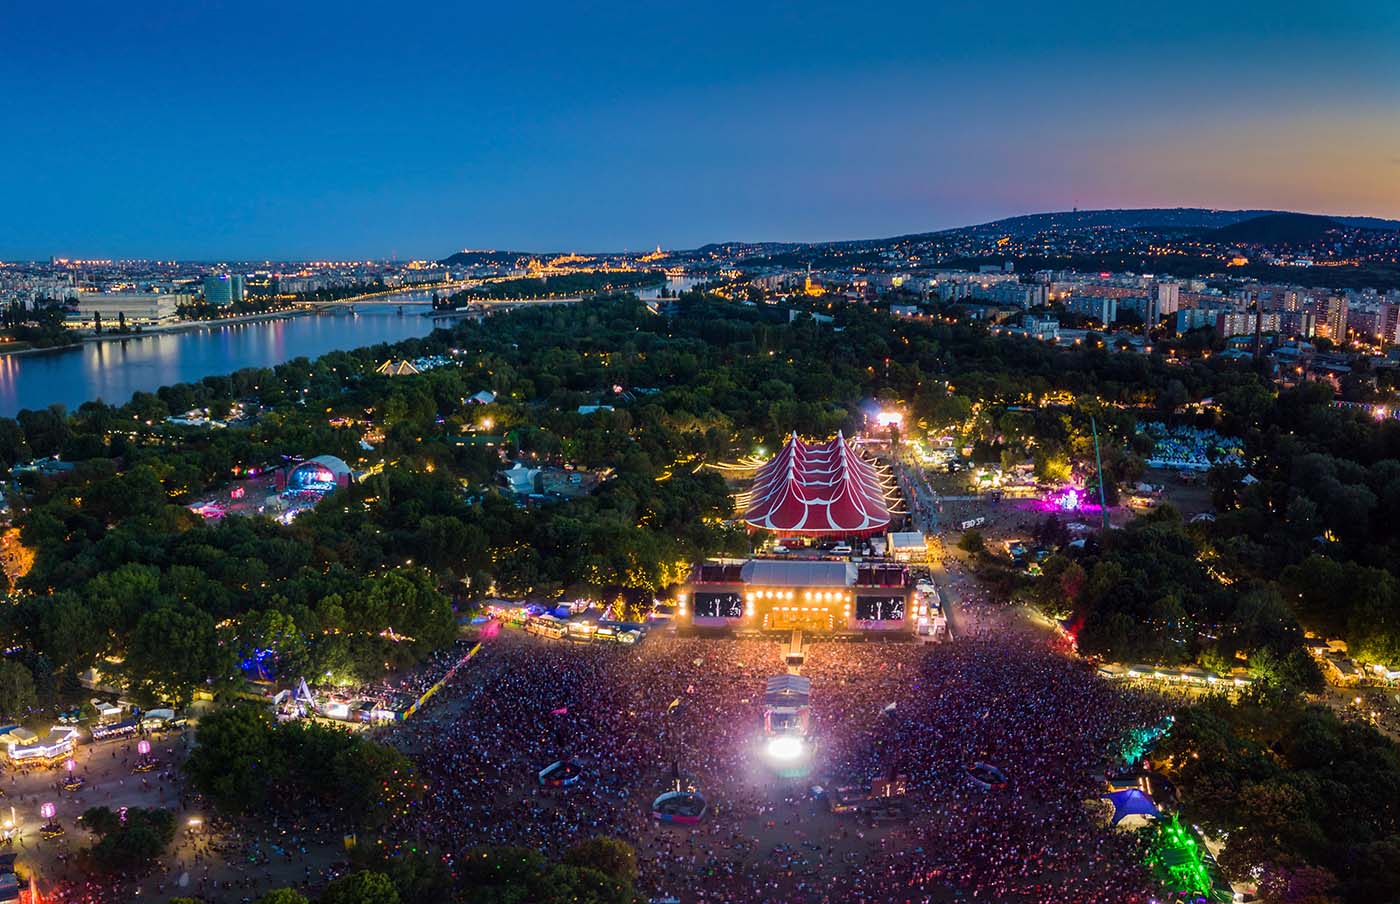
[[[427,299],[426,292],[403,299]],[[426,305],[403,308],[389,295],[344,311],[305,313],[274,320],[223,323],[172,333],[84,343],[22,355],[0,357],[0,417],[22,409],[64,404],[69,410],[91,399],[126,403],[136,392],[196,382],[211,374],[245,367],[272,367],[328,351],[399,341],[433,332]]]

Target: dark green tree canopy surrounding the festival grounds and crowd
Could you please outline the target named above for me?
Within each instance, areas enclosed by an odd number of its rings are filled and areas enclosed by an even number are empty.
[[[543,287],[554,290],[578,287]],[[430,354],[456,367],[375,372],[386,357]],[[1309,628],[1396,662],[1400,522],[1387,512],[1400,502],[1400,423],[1338,410],[1319,385],[1275,390],[1219,358],[1169,362],[839,301],[790,313],[687,292],[655,312],[627,297],[522,309],[119,406],[24,411],[0,418],[0,465],[62,456],[73,470],[18,477],[15,519],[34,564],[0,610],[10,651],[0,708],[18,718],[50,704],[90,666],[147,702],[235,686],[249,663],[360,683],[451,641],[456,617],[490,595],[664,593],[694,558],[749,549],[731,488],[707,465],[774,449],[792,431],[851,430],[865,399],[902,402],[911,432],[946,432],[979,462],[1023,465],[1049,483],[1096,481],[1092,417],[1110,501],[1141,473],[1140,417],[1238,435],[1243,463],[1210,474],[1214,525],[1162,511],[1054,556],[1043,578],[1016,589],[1068,617],[1081,649],[1116,659],[1245,665],[1260,684],[1310,688]],[[480,390],[494,399],[472,402]],[[1180,413],[1186,402],[1201,413]],[[164,420],[235,403],[253,416],[228,430]],[[209,523],[188,508],[230,480],[328,453],[370,474],[291,525]],[[526,508],[497,486],[511,459],[589,470],[601,483]],[[1394,827],[1372,802],[1357,800],[1354,841],[1319,838],[1316,827],[1337,814],[1319,799],[1336,785],[1352,802],[1348,770],[1389,775],[1393,747],[1309,709],[1274,714],[1287,735],[1210,707],[1193,712],[1173,736],[1187,744],[1179,753],[1215,744],[1229,758],[1219,774],[1180,768],[1189,800],[1201,795],[1189,806],[1218,789],[1222,820],[1249,807],[1267,816],[1267,837],[1243,838],[1240,858],[1277,866],[1280,887],[1308,884],[1289,858],[1320,865],[1352,900],[1368,900],[1366,886],[1348,870],[1389,880]],[[392,751],[325,728],[274,728],[238,707],[204,719],[188,768],[225,809],[312,806],[367,830],[413,798],[412,767]],[[564,863],[493,849],[463,866],[470,900],[630,896],[627,858],[606,844]],[[424,900],[406,890],[405,870],[372,865],[337,894]]]

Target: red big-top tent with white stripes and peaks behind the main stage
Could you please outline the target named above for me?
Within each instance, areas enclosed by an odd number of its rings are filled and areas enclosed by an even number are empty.
[[[792,434],[743,502],[743,521],[774,533],[855,536],[889,526],[885,483],[841,434],[826,442]]]

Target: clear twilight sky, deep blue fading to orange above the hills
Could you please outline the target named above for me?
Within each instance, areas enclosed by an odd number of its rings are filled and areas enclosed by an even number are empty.
[[[4,4],[0,259],[1400,217],[1396,3],[441,7]]]

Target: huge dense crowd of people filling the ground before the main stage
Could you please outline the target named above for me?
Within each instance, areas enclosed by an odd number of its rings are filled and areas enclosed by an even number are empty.
[[[617,835],[638,851],[643,894],[686,903],[1149,898],[1134,842],[1085,802],[1114,742],[1165,714],[1159,697],[1009,635],[819,642],[804,668],[813,768],[780,781],[760,749],[763,684],[783,668],[776,641],[657,634],[626,649],[501,633],[392,732],[428,786],[416,830],[449,856]],[[578,784],[536,781],[570,757]],[[1008,786],[970,781],[977,761]],[[710,802],[693,828],[651,819],[676,768]],[[812,793],[890,772],[907,777],[904,821],[833,814]]]

